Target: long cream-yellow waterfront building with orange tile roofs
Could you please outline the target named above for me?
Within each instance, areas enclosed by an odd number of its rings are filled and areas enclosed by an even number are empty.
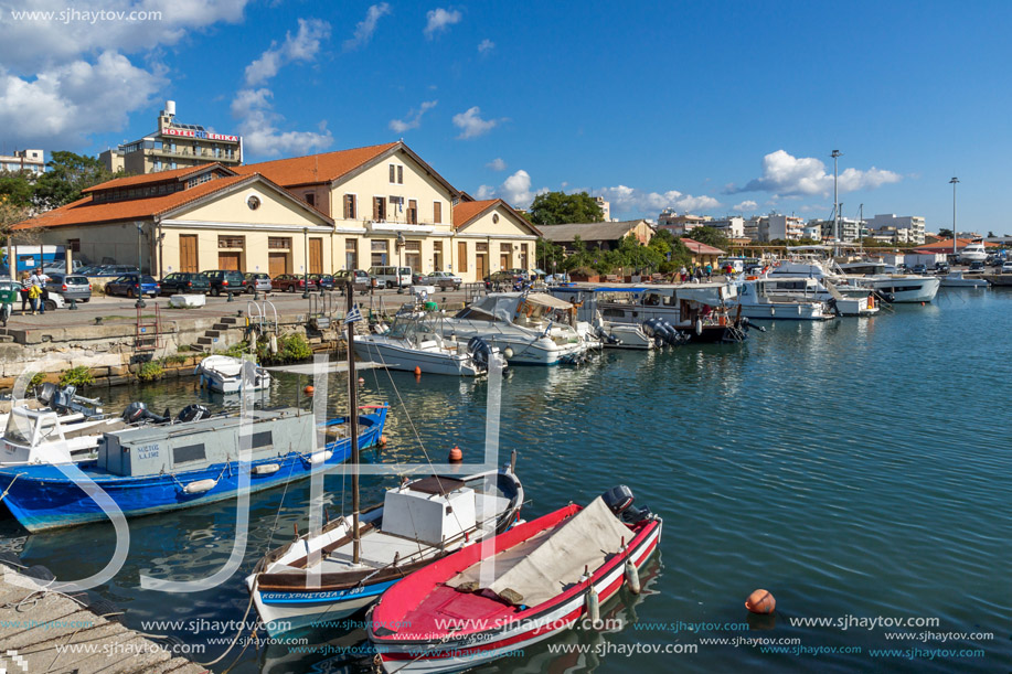
[[[18,225],[88,264],[146,272],[331,274],[404,265],[475,281],[529,269],[539,232],[501,200],[466,195],[403,142],[244,167],[121,178]],[[139,227],[138,227],[139,225]]]

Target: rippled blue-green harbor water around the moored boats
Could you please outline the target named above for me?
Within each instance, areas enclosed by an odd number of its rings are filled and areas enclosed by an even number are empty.
[[[895,314],[764,324],[744,344],[607,351],[578,368],[505,378],[500,454],[516,450],[525,517],[625,483],[664,531],[645,592],[604,607],[621,629],[576,630],[480,671],[1012,668],[1012,292],[944,289]],[[366,460],[422,461],[422,445],[436,462],[454,446],[478,460],[488,383],[362,376],[361,403],[391,404],[390,445]],[[345,409],[343,382],[330,381],[334,415]],[[306,383],[283,374],[271,399],[292,403]],[[142,399],[178,411],[196,395],[195,379],[177,381],[116,389],[106,406]],[[364,477],[363,503],[395,483]],[[330,514],[349,512],[349,482],[338,472],[327,486]],[[97,591],[128,627],[172,634],[210,662],[244,619],[245,576],[268,547],[306,531],[308,494],[308,483],[254,494],[241,569],[193,593],[142,590],[139,577],[221,569],[234,502],[132,520],[127,561]],[[0,547],[70,580],[105,566],[115,537],[109,525],[29,536],[7,516]],[[776,597],[775,616],[744,608],[757,588]],[[353,621],[296,633],[298,644],[243,639],[211,668],[372,671]]]

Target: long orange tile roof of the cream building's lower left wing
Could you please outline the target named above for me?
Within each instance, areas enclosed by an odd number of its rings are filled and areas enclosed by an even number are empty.
[[[128,201],[92,203],[92,195],[43,213],[39,217],[17,224],[14,229],[34,229],[36,227],[62,227],[68,225],[92,225],[98,223],[145,220],[174,211],[202,196],[207,196],[243,181],[256,180],[254,175],[230,175],[201,183],[188,190]],[[110,181],[116,182],[116,181]],[[103,183],[103,185],[109,183]],[[103,185],[97,185],[102,188]],[[295,197],[292,197],[295,199]],[[308,206],[307,206],[308,207]]]

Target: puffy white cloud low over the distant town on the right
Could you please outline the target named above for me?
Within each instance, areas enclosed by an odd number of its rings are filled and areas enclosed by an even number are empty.
[[[841,192],[873,190],[887,183],[899,182],[902,176],[893,171],[872,167],[867,171],[845,169],[839,175]],[[825,164],[814,157],[797,158],[784,150],[763,158],[763,175],[750,180],[744,188],[728,185],[728,194],[738,192],[771,192],[779,195],[828,195],[833,191],[833,175]]]

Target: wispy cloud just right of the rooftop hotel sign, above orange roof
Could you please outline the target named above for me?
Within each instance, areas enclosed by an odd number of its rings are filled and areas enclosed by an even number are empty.
[[[244,149],[249,154],[308,154],[333,142],[324,126],[320,131],[280,131],[277,125],[284,120],[274,111],[270,89],[243,89],[232,101],[232,114],[239,121]]]

